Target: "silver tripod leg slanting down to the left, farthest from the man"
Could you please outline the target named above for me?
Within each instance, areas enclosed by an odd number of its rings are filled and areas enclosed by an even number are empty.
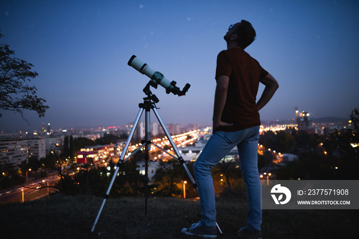
[[[126,156],[126,152],[127,152],[128,147],[129,147],[129,145],[130,145],[130,143],[131,143],[131,139],[132,139],[132,137],[133,137],[133,134],[134,134],[134,132],[135,132],[135,130],[136,130],[136,127],[137,127],[137,125],[138,125],[139,119],[141,118],[141,115],[142,115],[142,112],[143,112],[143,111],[144,111],[143,108],[140,108],[139,111],[138,111],[138,114],[137,114],[137,116],[136,116],[135,122],[133,123],[133,127],[132,127],[132,129],[131,129],[131,131],[130,131],[130,135],[128,136],[128,139],[127,139],[127,141],[126,141],[124,150],[122,151],[121,157],[119,158],[119,160],[118,160],[118,162],[117,162],[116,170],[115,170],[115,172],[113,173],[110,186],[108,187],[108,189],[107,189],[107,191],[106,191],[106,195],[105,195],[105,197],[104,197],[104,200],[103,200],[103,202],[102,202],[102,205],[101,205],[101,207],[100,207],[100,209],[99,209],[99,211],[98,211],[98,213],[97,213],[95,222],[93,223],[91,232],[93,232],[93,231],[95,230],[95,227],[96,227],[98,218],[99,218],[99,216],[101,215],[101,212],[102,212],[102,210],[103,210],[103,208],[104,208],[104,205],[105,205],[105,203],[106,203],[106,200],[107,200],[107,198],[108,198],[108,196],[109,196],[109,194],[110,194],[110,191],[111,191],[112,185],[113,185],[113,183],[114,183],[114,181],[115,181],[115,178],[116,178],[116,175],[117,175],[117,173],[118,173],[118,170],[119,170],[119,168],[121,167],[122,163],[124,162],[124,158],[125,158],[125,156]]]

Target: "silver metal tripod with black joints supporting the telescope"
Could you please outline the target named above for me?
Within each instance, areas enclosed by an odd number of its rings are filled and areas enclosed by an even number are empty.
[[[170,135],[170,133],[168,132],[165,124],[163,123],[162,119],[161,119],[161,116],[159,116],[158,112],[157,112],[157,108],[156,108],[156,105],[155,103],[158,103],[159,100],[158,98],[152,94],[151,90],[150,90],[150,86],[154,87],[154,88],[157,88],[157,84],[153,83],[152,81],[150,81],[146,87],[144,88],[144,92],[145,94],[147,95],[147,97],[144,98],[144,103],[141,103],[138,105],[139,107],[139,111],[137,113],[137,116],[136,116],[136,119],[135,119],[135,122],[133,123],[133,127],[130,131],[130,134],[128,136],[128,139],[127,139],[127,142],[125,144],[125,147],[124,147],[124,150],[122,151],[122,154],[121,154],[121,157],[119,158],[118,162],[117,162],[117,165],[116,165],[116,169],[115,169],[115,172],[113,173],[113,176],[112,176],[112,179],[111,179],[111,182],[110,182],[110,185],[106,191],[106,194],[104,196],[104,200],[102,202],[102,205],[101,205],[101,208],[99,209],[98,213],[97,213],[97,217],[95,219],[95,222],[92,226],[92,229],[91,229],[91,232],[93,232],[95,230],[95,227],[96,227],[96,224],[97,224],[97,221],[98,221],[98,218],[104,208],[104,205],[106,203],[106,200],[108,199],[109,197],[109,194],[110,194],[110,191],[111,191],[111,188],[112,188],[112,185],[115,181],[115,178],[116,178],[116,175],[118,173],[118,170],[119,168],[121,167],[121,165],[126,161],[128,160],[128,158],[130,158],[131,156],[133,156],[135,153],[137,153],[139,150],[141,150],[143,147],[145,147],[145,215],[147,215],[147,195],[148,195],[148,160],[149,160],[149,151],[151,150],[151,144],[155,147],[157,147],[159,150],[162,150],[164,151],[165,153],[169,154],[170,156],[172,156],[173,158],[179,160],[179,163],[181,163],[181,165],[183,165],[183,167],[185,168],[186,170],[186,173],[188,174],[189,178],[190,178],[190,181],[193,185],[193,188],[197,190],[197,185],[196,183],[194,182],[193,180],[193,177],[190,173],[190,171],[188,170],[186,164],[185,164],[185,161],[183,159],[183,157],[181,156],[181,154],[179,153],[176,145],[174,144],[173,140],[172,140],[172,137]],[[175,154],[177,155],[177,157],[175,157],[174,155],[168,153],[166,150],[162,149],[161,147],[157,146],[156,144],[153,144],[151,142],[151,124],[150,124],[150,111],[154,112],[154,114],[156,115],[156,118],[158,120],[158,123],[161,125],[163,131],[165,132]],[[138,122],[139,122],[139,119],[141,118],[142,116],[142,113],[143,111],[145,110],[145,140],[142,141],[142,146],[137,148],[135,151],[133,151],[127,158],[125,158],[125,155],[127,153],[127,150],[128,150],[128,147],[130,145],[130,142],[131,142],[131,139],[133,137],[133,134],[136,130],[136,127],[138,125]],[[216,224],[218,230],[220,231],[220,233],[222,234],[222,231],[220,229],[220,227],[218,226],[218,224]]]

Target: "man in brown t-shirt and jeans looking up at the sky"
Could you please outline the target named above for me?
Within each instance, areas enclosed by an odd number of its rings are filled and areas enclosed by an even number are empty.
[[[252,25],[242,20],[231,25],[224,39],[227,50],[217,56],[215,79],[217,82],[213,134],[193,165],[201,202],[201,221],[183,228],[188,235],[214,238],[217,235],[215,194],[211,170],[235,146],[240,156],[242,175],[247,187],[247,226],[238,234],[261,236],[262,191],[257,167],[257,149],[260,114],[278,88],[272,75],[264,70],[244,49],[255,38]],[[258,85],[265,89],[256,102]]]

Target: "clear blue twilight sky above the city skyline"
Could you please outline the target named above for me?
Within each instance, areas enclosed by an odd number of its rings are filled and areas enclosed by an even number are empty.
[[[133,122],[149,81],[127,65],[133,54],[191,84],[181,97],[152,90],[166,124],[210,125],[216,56],[241,19],[257,33],[246,51],[280,84],[262,120],[293,118],[295,107],[347,118],[359,108],[358,12],[359,1],[1,1],[0,42],[34,65],[30,85],[50,109],[26,111],[30,126],[2,111],[0,131]]]

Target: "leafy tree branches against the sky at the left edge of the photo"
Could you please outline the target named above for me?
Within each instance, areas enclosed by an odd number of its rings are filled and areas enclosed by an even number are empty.
[[[18,112],[26,122],[24,110],[34,110],[43,117],[49,108],[44,105],[45,99],[37,97],[35,86],[26,84],[38,74],[30,71],[32,64],[14,57],[14,53],[9,45],[0,44],[0,109]]]

